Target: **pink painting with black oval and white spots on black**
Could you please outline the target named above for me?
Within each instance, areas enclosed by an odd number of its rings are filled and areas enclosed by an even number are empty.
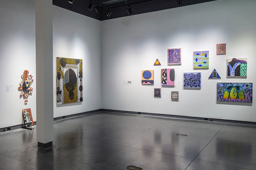
[[[161,69],[161,84],[162,86],[175,85],[175,70],[174,68]]]

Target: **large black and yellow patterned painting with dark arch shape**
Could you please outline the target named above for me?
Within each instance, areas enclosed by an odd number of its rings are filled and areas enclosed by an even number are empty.
[[[56,57],[57,104],[83,101],[83,60]]]

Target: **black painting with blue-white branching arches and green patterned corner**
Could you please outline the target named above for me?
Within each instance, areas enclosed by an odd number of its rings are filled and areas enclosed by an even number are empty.
[[[247,76],[247,58],[227,60],[227,76]]]

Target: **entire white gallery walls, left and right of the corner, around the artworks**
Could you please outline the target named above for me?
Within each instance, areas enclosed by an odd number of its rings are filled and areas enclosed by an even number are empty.
[[[217,82],[255,85],[255,6],[254,0],[218,0],[98,21],[53,5],[54,117],[102,108],[256,122],[254,103],[216,103]],[[22,109],[31,108],[36,121],[35,2],[2,0],[0,15],[3,128],[22,124]],[[217,43],[227,43],[226,55],[216,55]],[[181,66],[167,66],[168,48],[182,49]],[[193,70],[193,51],[204,50],[210,51],[210,68]],[[56,57],[83,59],[83,102],[56,105]],[[226,78],[226,61],[233,57],[248,58],[246,79]],[[161,66],[153,66],[156,58]],[[161,68],[175,68],[176,85],[154,98]],[[208,80],[214,68],[220,80]],[[154,70],[153,86],[141,85],[143,69]],[[24,70],[35,80],[27,105],[18,91]],[[182,89],[183,72],[202,72],[202,88]],[[172,90],[180,92],[179,102],[171,101]]]

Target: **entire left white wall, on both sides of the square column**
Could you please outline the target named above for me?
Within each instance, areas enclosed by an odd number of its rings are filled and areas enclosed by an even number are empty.
[[[0,128],[4,128],[23,123],[22,109],[31,108],[36,121],[35,1],[1,0],[0,15]],[[54,117],[101,109],[100,24],[53,5]],[[83,59],[83,102],[56,105],[57,56]],[[27,105],[18,91],[24,70],[34,78]]]

